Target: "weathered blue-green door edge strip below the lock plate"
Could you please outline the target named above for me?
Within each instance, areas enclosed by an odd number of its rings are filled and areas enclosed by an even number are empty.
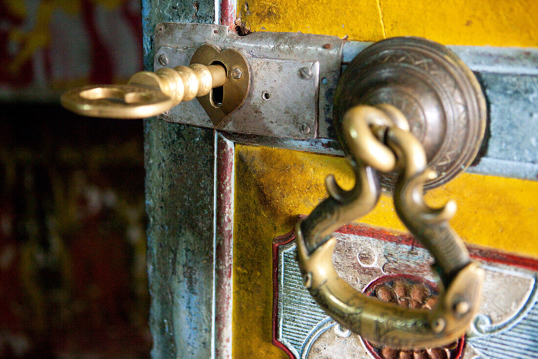
[[[208,358],[213,323],[213,130],[145,123],[154,358]]]

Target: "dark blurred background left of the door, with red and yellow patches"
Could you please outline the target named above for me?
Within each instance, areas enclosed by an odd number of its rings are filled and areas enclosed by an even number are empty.
[[[143,123],[63,110],[142,67],[139,0],[0,0],[0,358],[146,358]]]

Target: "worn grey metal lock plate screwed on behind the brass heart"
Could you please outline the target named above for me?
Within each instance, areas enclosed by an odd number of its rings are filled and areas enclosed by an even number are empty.
[[[154,44],[155,70],[188,65],[202,44],[243,51],[251,68],[250,91],[218,129],[290,139],[327,137],[327,128],[318,128],[318,119],[332,118],[342,39],[279,32],[238,36],[222,25],[162,23],[155,28]],[[214,127],[197,101],[180,103],[164,118]]]

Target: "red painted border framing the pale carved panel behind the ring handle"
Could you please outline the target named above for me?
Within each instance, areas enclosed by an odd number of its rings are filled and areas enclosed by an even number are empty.
[[[305,216],[299,216],[299,219],[305,218]],[[410,234],[401,233],[397,231],[389,231],[376,227],[358,224],[348,224],[337,231],[337,233],[352,234],[355,236],[363,236],[381,239],[384,241],[410,245],[414,247],[423,248],[424,246],[419,243]],[[275,237],[273,239],[273,333],[272,341],[275,347],[278,347],[285,351],[285,353],[291,358],[295,359],[292,352],[277,340],[277,310],[278,310],[278,247],[290,243],[295,239],[294,230],[286,233],[282,236]],[[490,263],[504,264],[513,267],[519,267],[522,269],[538,272],[538,259],[519,256],[518,254],[506,253],[496,250],[494,248],[485,248],[474,244],[465,244],[469,250],[471,258],[486,261]],[[377,280],[377,279],[376,279]],[[462,346],[463,353],[463,346]]]

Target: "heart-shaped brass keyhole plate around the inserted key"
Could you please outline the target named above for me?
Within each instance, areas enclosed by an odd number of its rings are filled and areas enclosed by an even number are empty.
[[[190,60],[191,64],[221,65],[226,69],[226,82],[211,89],[198,101],[215,128],[226,125],[226,118],[243,104],[249,93],[250,68],[243,53],[235,49],[220,50],[209,44],[200,46]]]

